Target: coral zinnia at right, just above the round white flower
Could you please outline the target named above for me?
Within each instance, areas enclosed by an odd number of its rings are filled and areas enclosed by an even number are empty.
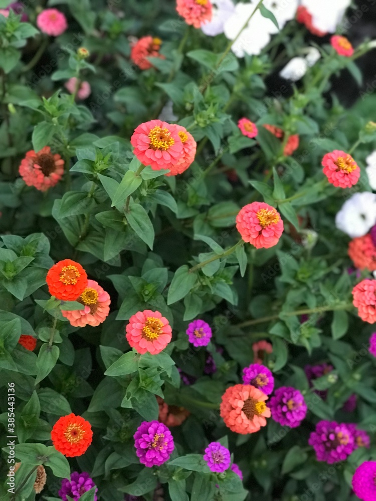
[[[351,188],[358,182],[360,169],[354,159],[342,150],[326,153],[321,165],[329,183],[340,188]]]

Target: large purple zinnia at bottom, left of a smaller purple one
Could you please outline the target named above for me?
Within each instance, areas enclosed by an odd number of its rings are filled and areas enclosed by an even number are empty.
[[[148,468],[166,462],[174,448],[170,430],[159,421],[143,421],[133,438],[136,454]]]

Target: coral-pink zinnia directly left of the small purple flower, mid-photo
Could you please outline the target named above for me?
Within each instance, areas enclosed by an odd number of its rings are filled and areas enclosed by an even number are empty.
[[[125,330],[128,343],[141,354],[149,352],[157,355],[164,350],[172,337],[168,320],[158,311],[137,312],[130,317]]]

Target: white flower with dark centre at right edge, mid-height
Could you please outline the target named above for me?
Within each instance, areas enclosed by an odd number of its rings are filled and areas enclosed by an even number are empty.
[[[355,193],[335,217],[335,225],[351,238],[365,235],[376,223],[376,194],[370,191]]]

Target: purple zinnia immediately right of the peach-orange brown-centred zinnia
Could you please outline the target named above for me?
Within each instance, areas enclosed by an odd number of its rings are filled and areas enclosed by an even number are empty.
[[[299,390],[291,386],[282,386],[270,399],[272,418],[282,426],[296,428],[307,414],[307,405]]]

